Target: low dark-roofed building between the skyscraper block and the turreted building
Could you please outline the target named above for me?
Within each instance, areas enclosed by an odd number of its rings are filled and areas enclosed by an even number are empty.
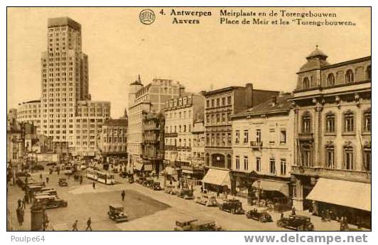
[[[108,119],[102,124],[99,145],[103,157],[127,156],[127,118]]]

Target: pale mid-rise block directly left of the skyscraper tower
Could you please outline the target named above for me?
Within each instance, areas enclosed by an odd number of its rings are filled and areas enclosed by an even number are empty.
[[[37,134],[41,134],[41,100],[27,101],[18,104],[18,123],[31,123],[37,129]]]

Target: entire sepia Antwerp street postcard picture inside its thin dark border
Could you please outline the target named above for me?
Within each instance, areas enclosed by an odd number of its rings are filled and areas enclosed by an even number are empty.
[[[372,230],[372,8],[6,14],[12,236]]]

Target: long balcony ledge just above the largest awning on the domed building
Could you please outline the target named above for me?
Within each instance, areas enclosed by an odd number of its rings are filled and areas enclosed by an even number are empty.
[[[346,169],[328,169],[323,166],[291,166],[291,173],[303,176],[340,178],[349,181],[371,182],[372,173]]]

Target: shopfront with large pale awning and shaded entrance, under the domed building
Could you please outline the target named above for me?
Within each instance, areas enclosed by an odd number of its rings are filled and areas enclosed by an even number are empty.
[[[371,197],[370,183],[319,178],[306,200],[312,203],[313,215],[347,217],[348,223],[370,229]]]

